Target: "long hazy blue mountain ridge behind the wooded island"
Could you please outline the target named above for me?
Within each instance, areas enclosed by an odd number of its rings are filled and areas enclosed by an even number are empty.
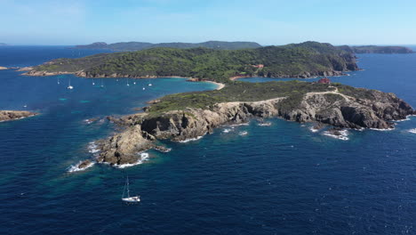
[[[207,41],[204,43],[161,43],[151,44],[143,42],[126,42],[126,43],[115,43],[106,44],[104,42],[97,42],[91,45],[76,45],[78,49],[108,49],[113,51],[140,51],[149,48],[156,47],[170,47],[179,49],[188,49],[196,47],[206,47],[211,49],[220,50],[236,50],[236,49],[249,49],[261,47],[260,44],[254,42],[223,42],[223,41]]]

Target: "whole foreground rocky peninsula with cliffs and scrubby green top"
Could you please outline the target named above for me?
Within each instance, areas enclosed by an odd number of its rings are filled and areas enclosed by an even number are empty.
[[[262,91],[262,93],[259,93]],[[140,151],[158,148],[158,140],[182,142],[211,134],[216,127],[252,118],[286,120],[339,128],[394,127],[393,121],[416,112],[393,93],[308,82],[236,82],[220,91],[165,96],[145,112],[110,118],[124,129],[97,142],[98,162],[132,164]]]

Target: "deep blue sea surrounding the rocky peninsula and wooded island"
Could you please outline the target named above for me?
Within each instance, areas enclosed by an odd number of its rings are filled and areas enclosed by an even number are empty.
[[[93,53],[106,52],[0,47],[0,66]],[[332,81],[396,93],[416,107],[416,54],[359,55],[359,66]],[[391,131],[348,131],[344,140],[278,118],[252,121],[165,142],[171,152],[150,150],[137,166],[71,173],[92,158],[93,141],[116,132],[108,115],[215,86],[20,73],[0,70],[0,109],[41,115],[0,123],[0,234],[416,234],[416,117]],[[121,202],[127,175],[139,205]]]

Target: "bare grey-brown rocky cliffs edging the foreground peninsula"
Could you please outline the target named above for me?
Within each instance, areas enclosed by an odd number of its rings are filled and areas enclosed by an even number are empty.
[[[157,115],[141,113],[119,118],[124,132],[100,142],[99,161],[110,164],[133,163],[138,152],[155,148],[155,140],[175,142],[210,134],[215,127],[239,124],[250,118],[284,118],[296,122],[318,122],[341,128],[391,128],[393,120],[415,112],[393,93],[370,91],[373,100],[357,99],[337,90],[307,93],[293,105],[290,98],[268,101],[224,102],[210,109],[174,110]],[[151,107],[150,107],[151,109]]]

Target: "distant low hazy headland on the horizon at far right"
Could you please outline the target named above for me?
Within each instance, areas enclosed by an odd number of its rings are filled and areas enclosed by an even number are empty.
[[[339,48],[348,53],[413,53],[412,49],[405,46],[384,45],[340,45]]]

